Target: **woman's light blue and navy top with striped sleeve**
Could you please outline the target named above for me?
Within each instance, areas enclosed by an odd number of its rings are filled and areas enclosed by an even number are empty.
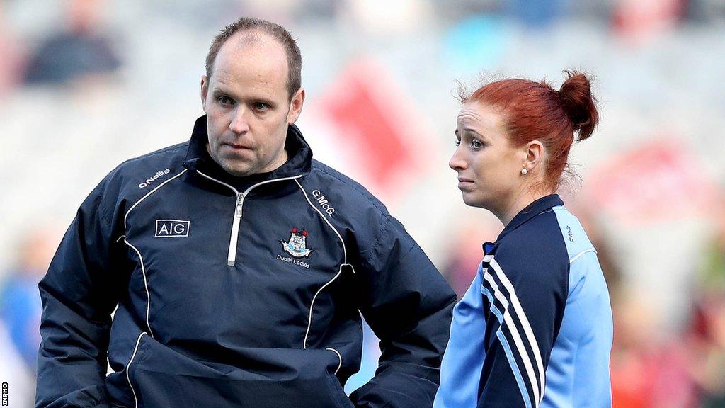
[[[558,195],[542,197],[484,245],[434,408],[611,407],[612,330],[592,242]]]

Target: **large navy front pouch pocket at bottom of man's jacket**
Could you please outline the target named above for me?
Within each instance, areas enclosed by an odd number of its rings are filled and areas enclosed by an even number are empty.
[[[130,365],[138,407],[350,408],[328,350],[244,348],[225,362],[192,359],[148,335]]]

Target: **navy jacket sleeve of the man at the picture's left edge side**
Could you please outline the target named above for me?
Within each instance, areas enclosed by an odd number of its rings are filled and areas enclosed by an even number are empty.
[[[109,221],[113,210],[103,203],[106,184],[80,206],[38,285],[43,303],[38,408],[110,407],[105,378],[111,313],[125,286],[112,267],[115,232]]]

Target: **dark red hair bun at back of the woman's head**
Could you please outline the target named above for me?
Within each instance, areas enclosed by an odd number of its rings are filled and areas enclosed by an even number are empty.
[[[558,91],[561,106],[571,121],[574,131],[579,133],[577,141],[592,136],[599,123],[597,99],[592,95],[590,78],[584,73],[567,70],[567,78]]]

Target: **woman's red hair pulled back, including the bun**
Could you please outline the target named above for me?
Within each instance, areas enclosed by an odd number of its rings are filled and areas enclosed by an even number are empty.
[[[597,123],[596,99],[589,76],[565,71],[567,78],[556,91],[546,81],[510,78],[488,83],[461,102],[481,102],[501,110],[507,136],[521,146],[539,140],[547,152],[545,187],[557,189],[561,174],[568,171],[569,149],[574,141],[592,136]]]

